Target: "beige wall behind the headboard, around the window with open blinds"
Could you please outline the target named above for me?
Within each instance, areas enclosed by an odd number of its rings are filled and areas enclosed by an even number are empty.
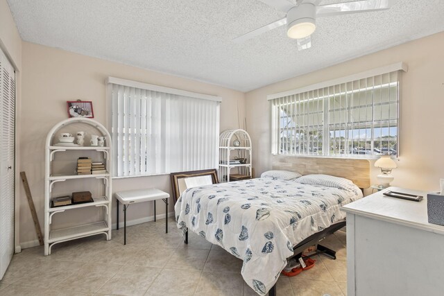
[[[444,177],[444,33],[408,42],[246,94],[247,127],[256,175],[271,169],[270,107],[266,96],[348,76],[394,62],[406,62],[400,105],[400,157],[393,186],[438,190]],[[296,67],[297,65],[295,65]],[[370,172],[376,184],[379,169]]]

